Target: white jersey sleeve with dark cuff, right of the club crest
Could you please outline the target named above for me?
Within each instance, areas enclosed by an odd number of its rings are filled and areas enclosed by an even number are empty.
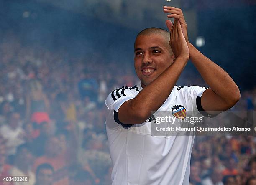
[[[205,110],[202,108],[201,105],[201,97],[203,92],[208,89],[206,87],[200,87],[200,86],[190,86],[188,88],[189,94],[191,95],[191,100],[193,104],[193,110],[197,112],[197,115],[203,115],[206,117],[215,117],[217,114],[209,114],[205,112]]]

